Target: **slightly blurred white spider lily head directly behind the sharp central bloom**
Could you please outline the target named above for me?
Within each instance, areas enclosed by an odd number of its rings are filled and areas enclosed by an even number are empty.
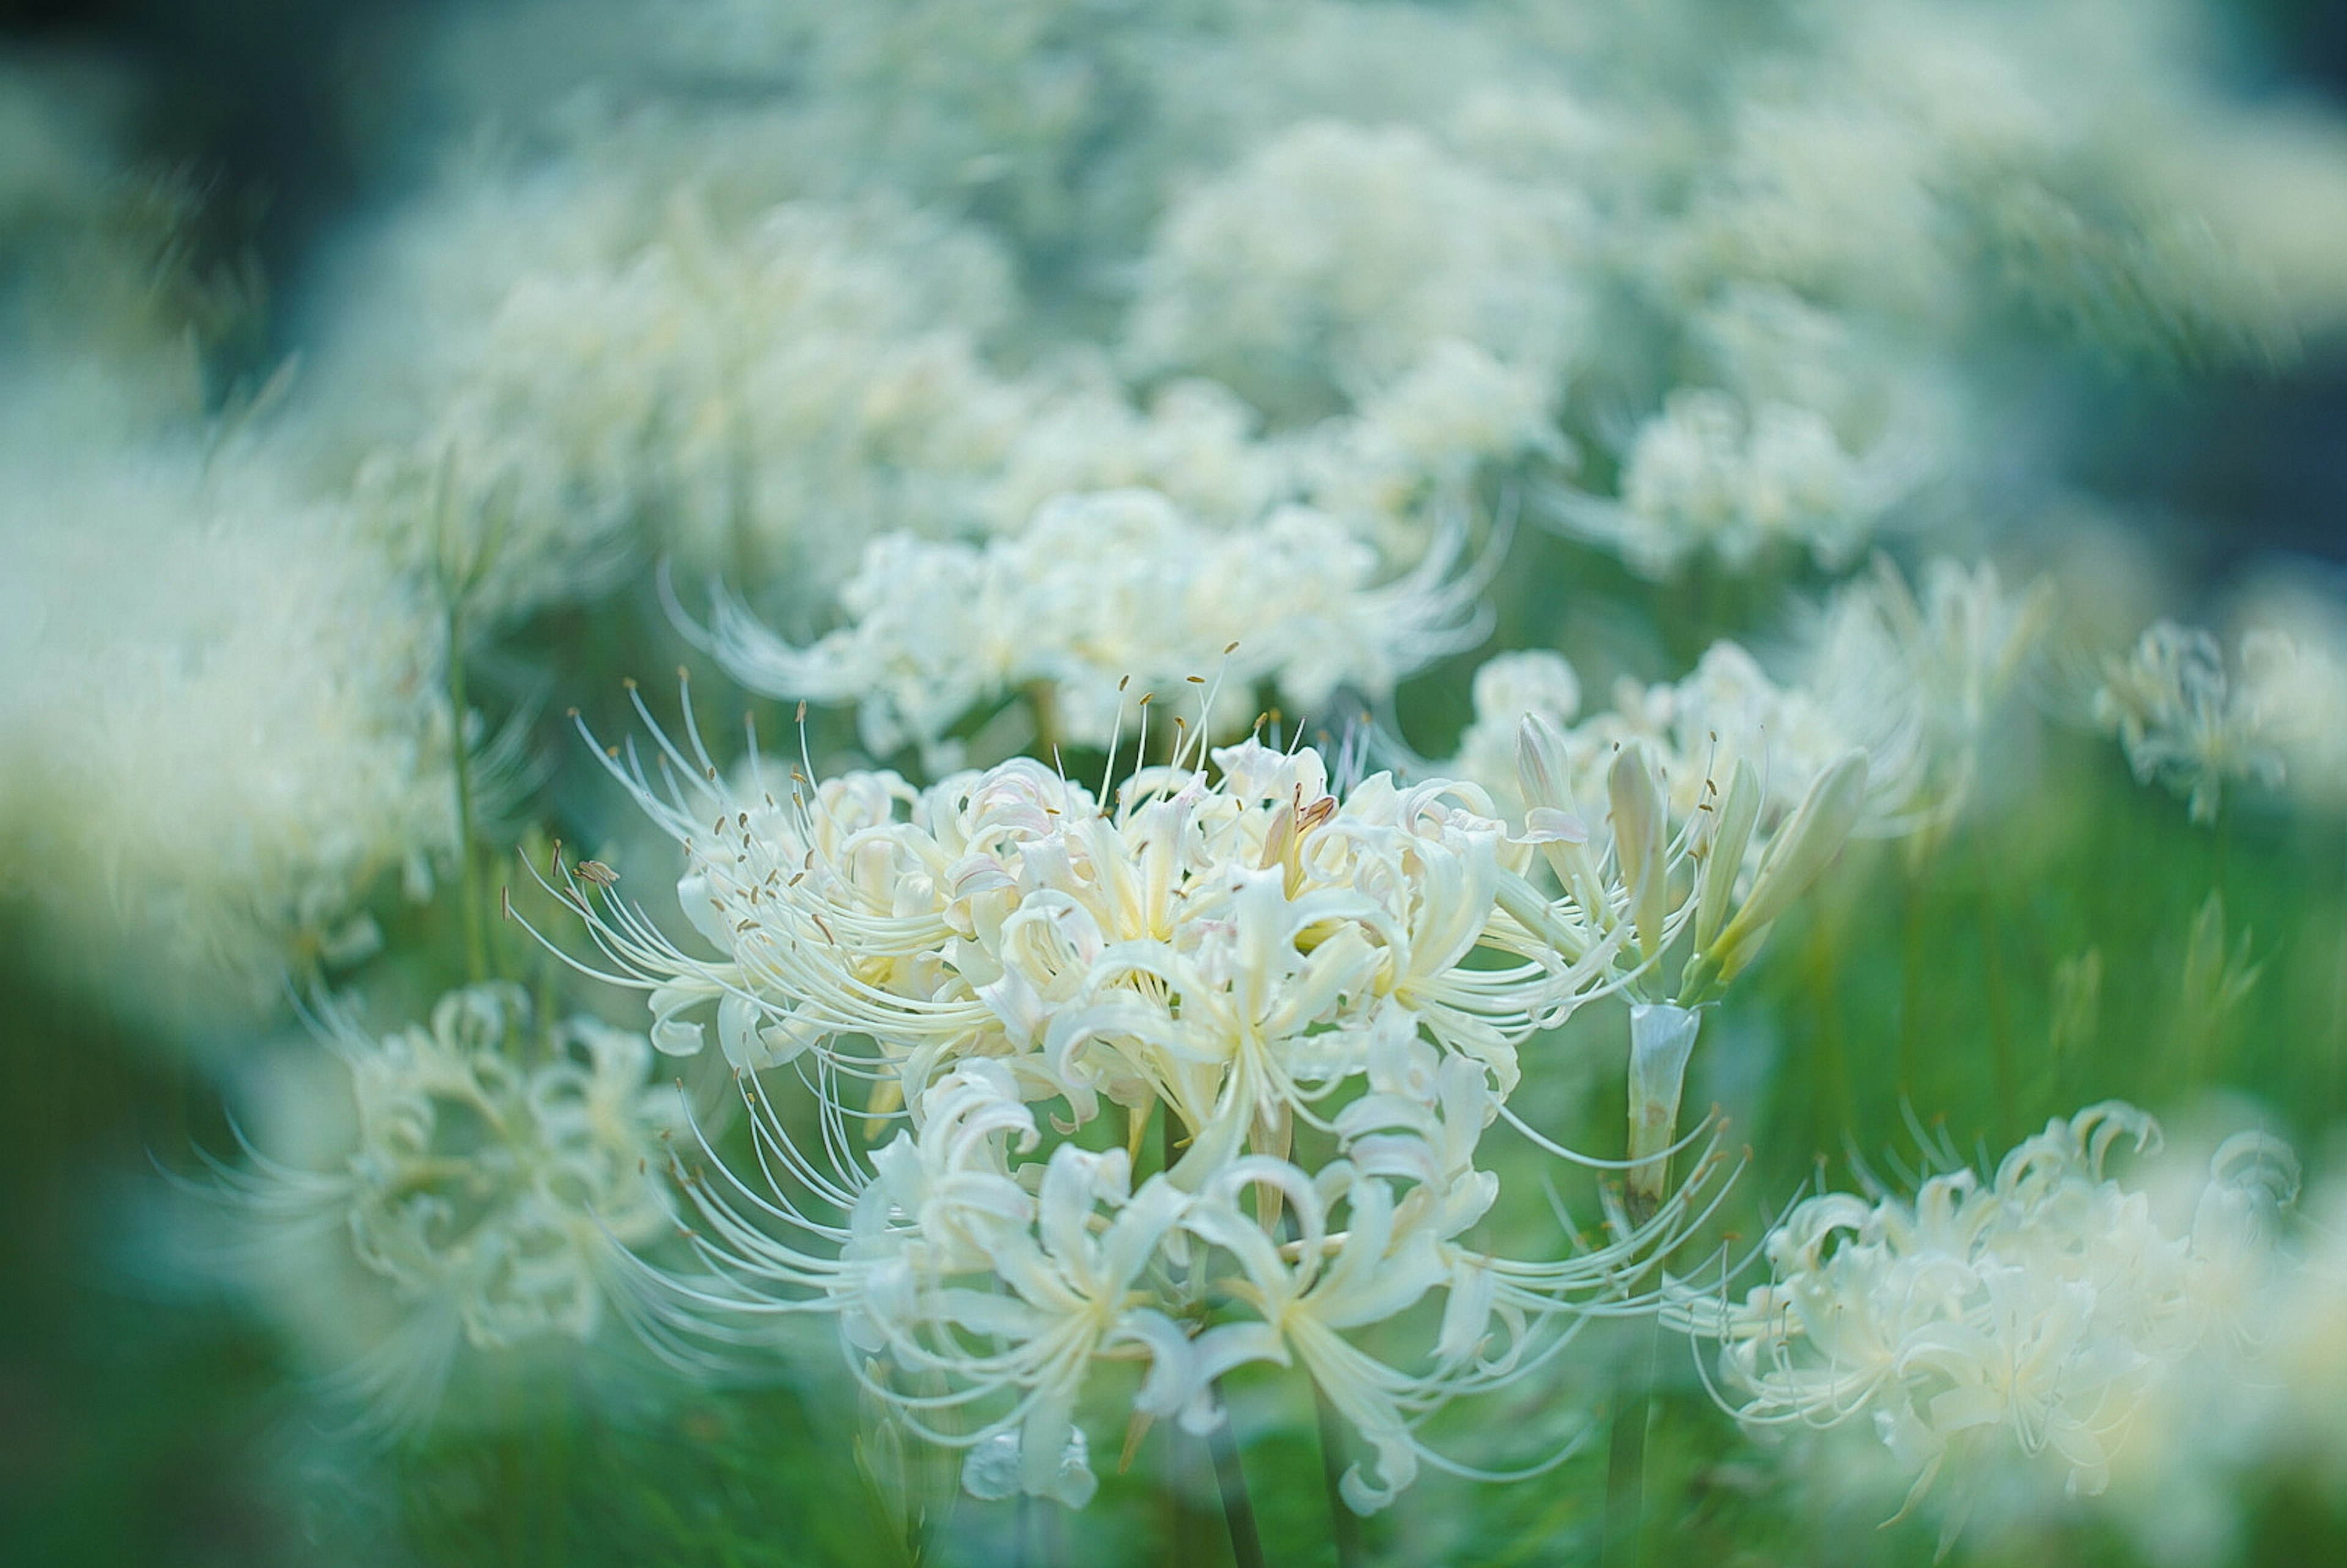
[[[1127,685],[1171,692],[1199,669],[1227,688],[1204,716],[1216,735],[1249,723],[1260,685],[1300,714],[1338,688],[1387,697],[1481,638],[1476,584],[1453,563],[1436,547],[1385,582],[1378,552],[1326,512],[1213,530],[1157,491],[1096,491],[986,545],[875,540],[840,589],[854,620],[807,648],[721,599],[709,648],[751,690],[857,704],[875,756],[918,744],[936,770],[958,761],[958,721],[1037,688],[1047,749],[1108,746]]]

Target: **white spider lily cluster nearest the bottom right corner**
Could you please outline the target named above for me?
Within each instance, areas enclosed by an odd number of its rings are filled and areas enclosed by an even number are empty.
[[[2103,1491],[2152,1401],[2239,1354],[2274,1211],[2298,1190],[2288,1148],[2234,1134],[2190,1221],[2164,1223],[2105,1174],[2122,1138],[2150,1150],[2159,1127],[2105,1101],[1988,1181],[1957,1169],[1913,1199],[1800,1202],[1770,1230],[1772,1284],[1678,1307],[1720,1340],[1723,1404],[1751,1427],[1873,1422],[1910,1502],[1955,1481],[1950,1533],[1993,1479]]]

